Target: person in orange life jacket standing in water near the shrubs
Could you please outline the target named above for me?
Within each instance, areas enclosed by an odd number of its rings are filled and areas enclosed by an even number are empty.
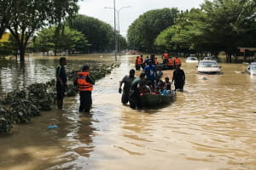
[[[93,90],[95,79],[91,77],[88,65],[84,65],[82,71],[79,71],[77,76],[76,85],[79,88],[80,95],[79,112],[89,112],[92,104],[91,91]]]

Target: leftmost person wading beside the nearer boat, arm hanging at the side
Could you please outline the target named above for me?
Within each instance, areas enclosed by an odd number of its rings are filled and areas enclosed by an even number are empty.
[[[129,72],[129,75],[126,75],[119,84],[119,94],[122,93],[122,85],[125,84],[124,88],[123,88],[122,99],[121,99],[121,101],[124,105],[126,105],[128,103],[131,82],[133,82],[134,79],[136,78],[134,75],[135,75],[135,71],[133,69],[131,69]]]

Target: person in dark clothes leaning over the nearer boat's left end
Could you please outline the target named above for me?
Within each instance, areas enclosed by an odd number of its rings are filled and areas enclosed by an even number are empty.
[[[140,99],[140,93],[143,85],[145,84],[145,73],[141,73],[139,78],[136,78],[131,82],[131,88],[129,93],[129,103],[132,109],[141,108],[143,102]]]

